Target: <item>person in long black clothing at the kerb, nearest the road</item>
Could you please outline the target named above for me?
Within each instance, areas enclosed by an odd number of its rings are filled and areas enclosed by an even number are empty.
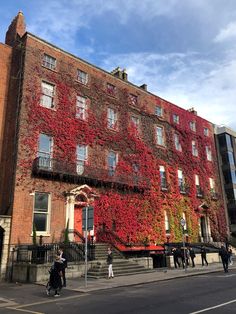
[[[62,288],[62,268],[63,263],[61,261],[60,255],[55,256],[55,261],[53,262],[53,265],[51,266],[49,273],[49,281],[47,283],[46,292],[47,295],[50,295],[51,290],[55,291],[54,297],[60,296],[60,291]]]

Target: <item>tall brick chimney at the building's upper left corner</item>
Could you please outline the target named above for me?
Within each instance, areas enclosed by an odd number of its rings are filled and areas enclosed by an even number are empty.
[[[21,11],[11,22],[11,25],[8,28],[6,33],[5,43],[9,46],[14,46],[17,36],[22,37],[26,32],[25,18]]]

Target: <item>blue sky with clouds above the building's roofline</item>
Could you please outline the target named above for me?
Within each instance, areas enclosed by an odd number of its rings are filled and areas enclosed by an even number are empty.
[[[27,31],[184,109],[236,131],[235,0],[8,0]]]

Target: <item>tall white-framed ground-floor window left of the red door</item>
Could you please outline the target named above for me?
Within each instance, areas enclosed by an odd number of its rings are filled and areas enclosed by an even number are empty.
[[[49,229],[50,194],[35,192],[33,225],[36,232],[47,232]]]

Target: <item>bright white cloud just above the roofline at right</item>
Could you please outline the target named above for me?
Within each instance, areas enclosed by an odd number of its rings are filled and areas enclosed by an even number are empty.
[[[196,53],[113,55],[102,66],[126,67],[129,80],[213,123],[236,130],[236,58],[207,60]]]

